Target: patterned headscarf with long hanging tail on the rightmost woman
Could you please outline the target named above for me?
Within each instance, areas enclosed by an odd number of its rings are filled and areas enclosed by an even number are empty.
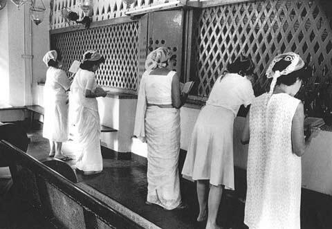
[[[275,64],[281,60],[289,62],[288,66],[286,66],[286,68],[284,68],[284,70],[282,71],[273,71],[273,67],[275,66]],[[288,75],[289,73],[293,73],[293,71],[297,71],[303,67],[304,61],[296,53],[289,52],[277,55],[271,62],[270,66],[268,66],[268,70],[266,71],[266,77],[273,78],[270,85],[270,91],[268,92],[268,99],[270,98],[273,90],[275,89],[275,84],[277,83],[278,77],[282,75]]]

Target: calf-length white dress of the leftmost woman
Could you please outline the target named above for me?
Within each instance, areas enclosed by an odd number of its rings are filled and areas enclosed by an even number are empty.
[[[71,86],[66,73],[50,66],[44,86],[43,136],[55,142],[68,140],[68,95]]]

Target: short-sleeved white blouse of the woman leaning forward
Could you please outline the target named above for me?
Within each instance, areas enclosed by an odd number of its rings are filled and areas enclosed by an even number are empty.
[[[206,104],[230,109],[236,116],[241,104],[246,107],[255,98],[252,84],[237,73],[226,73],[221,77],[214,83]]]

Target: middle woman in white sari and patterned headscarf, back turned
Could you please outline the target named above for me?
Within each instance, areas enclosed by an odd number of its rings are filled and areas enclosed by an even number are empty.
[[[134,135],[147,141],[147,204],[165,210],[182,209],[178,155],[180,111],[187,95],[170,71],[169,49],[161,47],[147,56],[147,71],[140,80]]]

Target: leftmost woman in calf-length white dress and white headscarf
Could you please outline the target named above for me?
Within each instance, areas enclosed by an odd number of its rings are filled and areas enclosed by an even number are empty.
[[[43,62],[48,66],[44,87],[44,128],[43,136],[50,142],[49,157],[62,161],[72,158],[61,152],[62,143],[68,139],[68,95],[71,86],[66,73],[60,69],[61,57],[57,51],[48,51]]]

